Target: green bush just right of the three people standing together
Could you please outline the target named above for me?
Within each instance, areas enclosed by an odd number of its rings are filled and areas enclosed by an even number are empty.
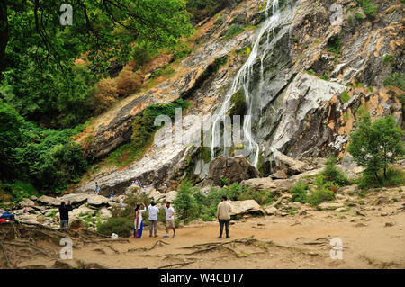
[[[194,192],[193,184],[189,181],[183,181],[173,202],[178,219],[184,220],[185,224],[196,219],[198,216],[197,202],[195,197],[193,197]]]

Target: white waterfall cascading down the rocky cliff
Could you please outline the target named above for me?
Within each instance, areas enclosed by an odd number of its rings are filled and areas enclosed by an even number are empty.
[[[243,90],[246,99],[246,107],[247,112],[244,117],[243,121],[243,137],[245,142],[247,142],[247,152],[248,152],[248,160],[253,166],[257,166],[258,163],[258,156],[259,156],[259,146],[255,139],[253,139],[252,131],[251,131],[251,115],[252,115],[252,106],[253,106],[253,94],[251,94],[252,87],[250,86],[250,80],[253,77],[253,65],[257,62],[258,53],[260,51],[260,47],[264,46],[265,49],[261,52],[260,55],[260,84],[259,90],[261,90],[263,82],[264,82],[264,67],[263,67],[263,60],[266,57],[266,54],[269,49],[272,47],[272,42],[275,39],[275,26],[280,18],[279,13],[279,1],[274,0],[273,4],[270,5],[271,0],[267,0],[266,2],[266,9],[265,9],[265,22],[260,27],[260,30],[255,35],[253,39],[253,48],[247,58],[245,64],[238,70],[237,75],[235,76],[232,85],[229,89],[228,94],[225,96],[225,101],[220,107],[220,111],[214,117],[212,121],[212,140],[211,140],[211,159],[215,157],[215,147],[220,147],[220,133],[217,132],[217,129],[220,129],[220,122],[224,121],[224,117],[226,113],[229,111],[230,103],[232,95],[237,93],[240,90]],[[272,7],[273,13],[269,16],[269,9]],[[272,42],[270,42],[270,33],[273,34]],[[266,36],[266,42],[260,44],[263,37]],[[244,148],[246,146],[244,145]]]

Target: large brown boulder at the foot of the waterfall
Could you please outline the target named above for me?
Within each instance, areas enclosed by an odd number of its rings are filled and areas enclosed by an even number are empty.
[[[240,183],[259,176],[257,168],[250,165],[245,157],[220,156],[211,161],[208,175],[201,185],[221,185],[221,179],[224,178],[228,180],[228,184]]]

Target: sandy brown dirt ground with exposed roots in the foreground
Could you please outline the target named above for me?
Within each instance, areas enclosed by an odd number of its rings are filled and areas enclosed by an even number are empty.
[[[108,241],[73,249],[74,268],[405,268],[403,200],[368,211],[307,209],[285,217],[250,217],[230,225],[229,239],[217,239],[217,222],[193,222],[177,229],[175,238]],[[331,238],[340,238],[342,259],[332,259]],[[56,246],[58,253],[61,247]],[[18,267],[55,266],[38,257]]]

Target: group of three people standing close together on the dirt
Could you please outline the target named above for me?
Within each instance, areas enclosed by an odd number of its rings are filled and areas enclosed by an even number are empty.
[[[141,209],[143,206],[143,209]],[[141,238],[143,231],[143,218],[142,213],[147,211],[145,203],[138,203],[135,208],[135,220],[134,220],[134,229],[133,237]],[[175,238],[175,209],[171,206],[170,202],[166,202],[166,235],[163,238],[169,238],[169,231],[173,229],[173,237]],[[152,235],[157,237],[157,217],[159,209],[156,206],[155,202],[150,202],[148,205],[148,225],[149,225],[149,237]]]

